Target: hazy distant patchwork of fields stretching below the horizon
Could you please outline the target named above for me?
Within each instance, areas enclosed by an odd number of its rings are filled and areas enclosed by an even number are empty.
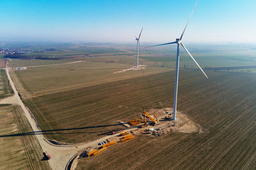
[[[256,50],[252,45],[188,45],[187,47],[202,67],[256,66]],[[89,43],[53,44],[51,46],[45,44],[35,46],[34,48],[33,52],[22,56],[28,59],[35,59],[37,56],[47,60],[12,60],[10,66],[32,66],[54,62],[62,63],[63,61],[60,59],[136,64],[136,50],[132,44],[97,45]],[[49,51],[48,49],[54,50]],[[175,52],[175,46],[143,48],[143,51],[140,52],[140,63],[150,66],[154,64],[154,66],[172,67],[175,66]],[[180,50],[180,67],[196,67],[193,60],[190,59],[183,49]]]

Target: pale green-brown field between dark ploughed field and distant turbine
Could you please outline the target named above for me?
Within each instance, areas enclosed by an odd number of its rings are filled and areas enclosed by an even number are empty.
[[[28,67],[26,70],[12,71],[10,74],[15,73],[12,77],[17,76],[19,78],[24,87],[22,89],[31,94],[30,96],[38,96],[173,70],[167,67],[147,67],[147,69],[140,71],[113,74],[127,67],[131,66],[102,62],[77,62],[60,66]],[[17,90],[24,93],[24,90],[17,85],[19,83],[14,83]]]

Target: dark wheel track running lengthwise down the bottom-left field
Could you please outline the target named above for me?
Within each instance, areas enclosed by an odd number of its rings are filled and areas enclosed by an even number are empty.
[[[17,116],[15,115],[15,113],[17,113],[16,111],[17,111],[16,108],[12,108],[12,115],[13,115],[15,124],[16,124],[16,126],[17,126],[17,130],[18,130],[18,132],[21,134],[22,131],[21,131],[21,129],[20,129],[20,125],[19,125],[19,122],[18,122],[18,120],[17,120]],[[25,150],[26,157],[27,157],[28,162],[29,162],[29,166],[31,167],[31,169],[35,169],[34,164],[33,164],[33,161],[32,161],[32,158],[31,158],[31,155],[29,154],[28,146],[26,145],[24,136],[21,135],[21,136],[20,136],[20,139],[21,139],[22,146],[23,146],[23,148],[24,148],[24,150]]]

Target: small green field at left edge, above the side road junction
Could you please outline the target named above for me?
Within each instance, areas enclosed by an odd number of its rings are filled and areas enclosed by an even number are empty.
[[[0,98],[8,97],[12,95],[12,91],[9,88],[9,81],[7,79],[4,69],[0,69]]]

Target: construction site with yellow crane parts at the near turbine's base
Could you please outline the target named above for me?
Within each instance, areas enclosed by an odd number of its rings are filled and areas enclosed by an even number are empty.
[[[83,150],[77,160],[84,157],[96,157],[106,151],[109,146],[127,141],[132,142],[136,136],[151,136],[154,138],[164,136],[169,132],[203,132],[200,125],[191,121],[186,115],[179,113],[177,118],[179,121],[174,121],[172,115],[172,108],[153,109],[147,112],[143,107],[143,114],[139,115],[140,118],[132,119],[128,122],[119,122],[119,124],[124,125],[124,129],[113,129],[113,131],[104,133],[109,138],[98,143],[97,146],[90,146]]]

